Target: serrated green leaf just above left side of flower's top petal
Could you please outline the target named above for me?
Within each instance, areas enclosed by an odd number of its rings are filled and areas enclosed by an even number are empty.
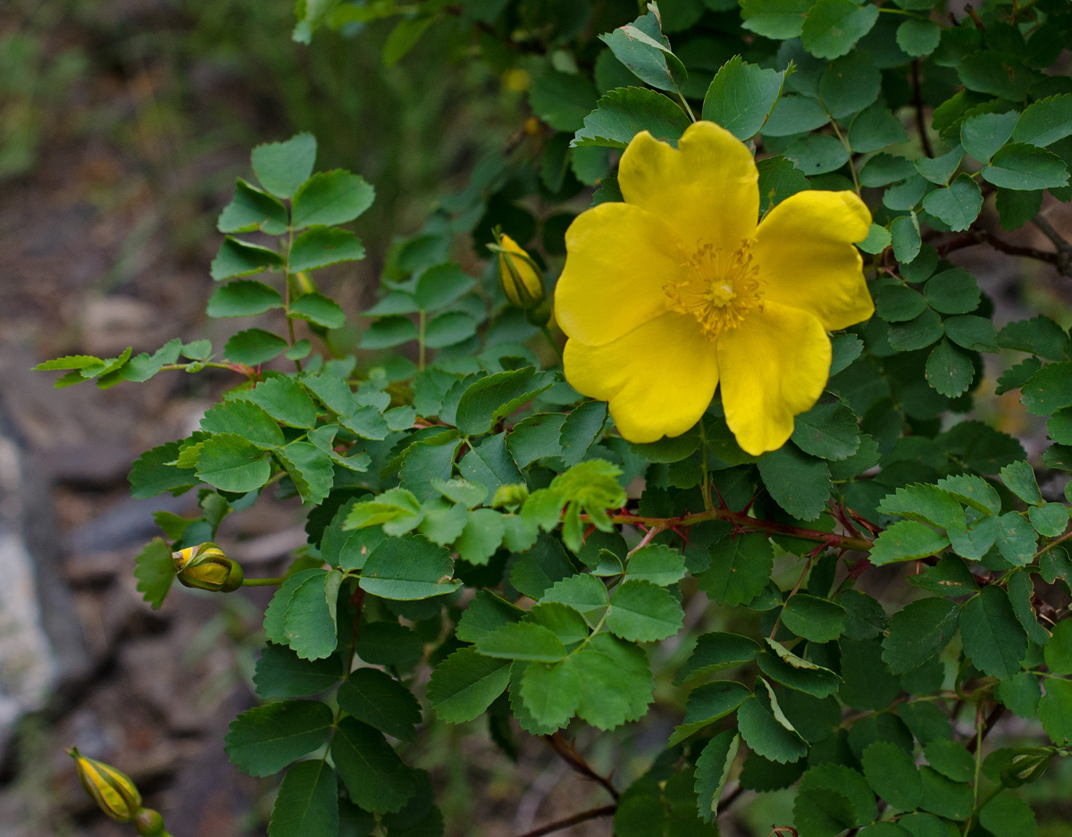
[[[641,131],[676,145],[688,128],[688,117],[672,100],[642,87],[624,87],[605,93],[596,109],[584,117],[574,136],[574,147],[625,148]]]

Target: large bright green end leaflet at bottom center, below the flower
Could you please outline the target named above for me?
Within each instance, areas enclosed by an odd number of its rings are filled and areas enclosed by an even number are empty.
[[[600,730],[642,718],[652,702],[644,652],[610,633],[596,633],[574,655],[580,681],[577,715]]]

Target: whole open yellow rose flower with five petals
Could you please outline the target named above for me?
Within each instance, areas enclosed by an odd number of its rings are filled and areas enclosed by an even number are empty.
[[[646,131],[622,154],[625,203],[566,233],[555,316],[566,379],[609,402],[630,442],[678,436],[720,385],[753,455],[781,447],[830,374],[828,331],[874,311],[853,246],[870,213],[852,192],[799,192],[759,215],[751,153],[713,122],[674,149]]]

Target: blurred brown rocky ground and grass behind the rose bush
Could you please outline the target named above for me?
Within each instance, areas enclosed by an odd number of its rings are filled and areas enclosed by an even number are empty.
[[[252,146],[298,131],[316,135],[318,169],[346,167],[376,186],[357,225],[368,258],[329,273],[325,288],[351,314],[371,304],[392,238],[418,230],[528,117],[518,76],[504,84],[466,60],[470,44],[450,27],[385,68],[390,27],[306,46],[292,40],[289,0],[0,2],[0,837],[133,833],[92,807],[71,745],[129,773],[176,837],[265,833],[276,780],[239,775],[222,741],[253,703],[270,593],[180,588],[154,612],[131,574],[158,534],[152,512],[194,503],[131,499],[131,462],[187,435],[232,382],[209,371],[56,390],[55,374],[30,368],[152,352],[175,337],[221,346],[237,327],[204,314],[215,218]],[[1047,245],[1030,228],[1007,238]],[[480,269],[468,248],[453,256]],[[1068,280],[1051,268],[982,249],[956,259],[998,302],[999,323],[1028,305],[1068,325]],[[1038,432],[1014,393],[986,409],[1008,432]],[[223,545],[241,541],[248,570],[276,574],[304,541],[302,522],[299,506],[266,497],[228,519]],[[650,739],[601,736],[590,760],[609,768],[631,753],[624,787],[672,722],[646,727]],[[436,775],[450,835],[508,837],[608,802],[535,739],[518,765],[487,734],[466,739],[464,763],[443,758],[464,732],[431,727],[414,757],[453,765]],[[1067,795],[1047,782],[1038,792]],[[741,821],[765,833],[790,804],[766,795]],[[596,821],[563,833],[609,832]]]

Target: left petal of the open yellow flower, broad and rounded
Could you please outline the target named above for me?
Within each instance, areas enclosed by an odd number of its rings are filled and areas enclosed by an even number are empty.
[[[662,314],[662,286],[686,256],[660,219],[628,204],[599,204],[566,230],[566,266],[554,315],[566,335],[590,346],[616,340]]]

